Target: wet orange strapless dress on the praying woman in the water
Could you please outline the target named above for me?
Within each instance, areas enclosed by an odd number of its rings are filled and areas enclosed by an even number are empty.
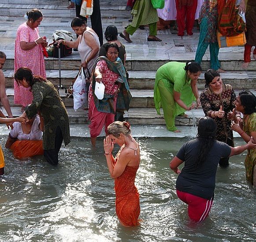
[[[117,159],[115,159],[114,165]],[[140,199],[134,185],[139,166],[126,166],[121,176],[115,179],[115,211],[125,226],[139,225]]]

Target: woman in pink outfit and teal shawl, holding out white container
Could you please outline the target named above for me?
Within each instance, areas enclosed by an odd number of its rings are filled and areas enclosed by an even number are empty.
[[[125,68],[118,57],[119,47],[115,43],[106,46],[106,56],[100,56],[93,66],[93,78],[89,87],[89,120],[91,124],[90,136],[93,146],[96,137],[105,125],[108,135],[108,125],[115,120],[116,108],[128,110],[130,105],[130,89],[126,79]],[[95,84],[102,82],[105,85],[104,98],[99,100],[95,93]]]

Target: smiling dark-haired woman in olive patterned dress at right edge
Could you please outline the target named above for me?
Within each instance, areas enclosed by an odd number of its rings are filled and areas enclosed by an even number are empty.
[[[238,132],[239,135],[247,143],[250,137],[253,138],[253,143],[256,143],[256,97],[250,91],[241,91],[235,101],[236,111],[241,112],[243,122],[237,122],[232,113],[232,118],[235,122],[231,124],[231,128]],[[246,180],[256,187],[256,149],[248,150],[248,154],[245,158],[245,172]]]

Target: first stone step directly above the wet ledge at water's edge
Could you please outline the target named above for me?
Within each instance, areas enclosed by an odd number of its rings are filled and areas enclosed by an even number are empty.
[[[11,110],[15,117],[22,114],[19,106],[11,107]],[[78,110],[75,112],[72,107],[67,107],[67,112],[70,124],[89,124],[88,111]],[[4,109],[3,113],[7,115]],[[124,117],[132,125],[165,125],[162,110],[161,114],[162,115],[158,115],[154,108],[130,108]],[[186,114],[188,114],[189,117],[176,117],[175,125],[194,126],[197,124],[200,117],[204,117],[203,110],[201,109],[187,111]]]

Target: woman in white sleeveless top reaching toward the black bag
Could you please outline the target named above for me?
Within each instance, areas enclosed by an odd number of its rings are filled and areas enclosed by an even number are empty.
[[[81,66],[84,70],[89,70],[92,73],[93,64],[99,56],[100,41],[93,29],[89,28],[81,18],[74,18],[71,22],[71,27],[78,38],[75,41],[58,40],[58,44],[67,45],[70,48],[77,48],[81,57]]]

